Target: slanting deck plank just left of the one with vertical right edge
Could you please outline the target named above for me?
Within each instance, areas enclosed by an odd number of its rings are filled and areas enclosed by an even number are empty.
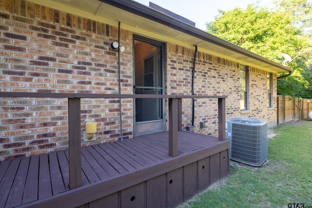
[[[6,203],[5,208],[11,208],[21,205],[29,161],[30,157],[21,158],[20,166],[16,173],[11,191],[9,193],[9,197],[7,199],[8,203]]]

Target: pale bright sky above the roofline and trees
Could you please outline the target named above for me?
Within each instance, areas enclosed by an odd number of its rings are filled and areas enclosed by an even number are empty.
[[[176,13],[186,19],[195,22],[195,27],[206,30],[206,21],[215,20],[218,9],[233,10],[247,8],[248,4],[256,3],[257,0],[135,0],[149,6],[153,2],[158,6]],[[273,7],[273,0],[258,0],[261,7]]]

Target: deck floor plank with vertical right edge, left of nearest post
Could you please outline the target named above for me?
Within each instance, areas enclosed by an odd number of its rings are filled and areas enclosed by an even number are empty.
[[[39,155],[30,158],[22,204],[38,200]]]

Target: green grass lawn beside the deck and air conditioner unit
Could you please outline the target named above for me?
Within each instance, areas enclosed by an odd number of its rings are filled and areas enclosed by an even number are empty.
[[[312,206],[312,121],[292,123],[273,129],[269,162],[259,168],[231,162],[228,177],[179,208]]]

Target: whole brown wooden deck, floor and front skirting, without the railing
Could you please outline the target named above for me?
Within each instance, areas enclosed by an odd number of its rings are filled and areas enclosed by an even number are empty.
[[[228,140],[181,131],[178,156],[170,157],[168,136],[81,148],[82,187],[71,190],[68,151],[3,161],[0,208],[173,207],[228,175]]]

